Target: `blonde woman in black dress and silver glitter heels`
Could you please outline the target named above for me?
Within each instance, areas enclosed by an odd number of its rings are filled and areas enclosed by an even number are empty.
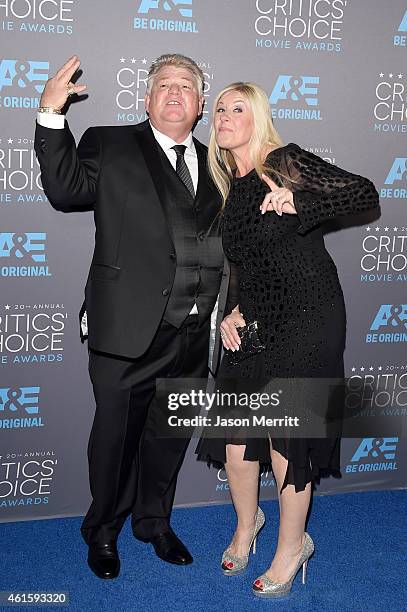
[[[367,179],[337,168],[296,144],[283,146],[265,92],[251,83],[223,89],[214,104],[209,167],[224,200],[222,240],[231,263],[226,349],[220,378],[342,377],[345,307],[324,222],[378,209]],[[269,214],[263,214],[268,211]],[[265,350],[236,362],[237,328],[259,324]],[[339,438],[211,439],[199,458],[223,463],[237,528],[222,557],[225,575],[244,571],[264,524],[258,508],[259,464],[270,463],[280,525],[271,566],[253,584],[261,597],[287,594],[314,544],[305,532],[311,487],[339,471]]]

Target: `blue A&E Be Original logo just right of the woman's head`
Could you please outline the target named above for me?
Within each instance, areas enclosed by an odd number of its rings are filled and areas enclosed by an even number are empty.
[[[320,121],[318,87],[318,76],[280,74],[269,98],[273,118]]]

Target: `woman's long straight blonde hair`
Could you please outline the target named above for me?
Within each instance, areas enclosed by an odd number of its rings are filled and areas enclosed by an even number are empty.
[[[265,158],[269,151],[283,145],[273,125],[266,92],[254,83],[232,83],[222,89],[216,96],[213,105],[213,118],[215,117],[219,100],[230,91],[237,91],[242,94],[253,115],[253,133],[249,141],[249,154],[257,174],[260,177],[262,174],[279,175],[279,172],[265,163]],[[215,185],[222,195],[223,203],[225,203],[229,194],[233,171],[236,169],[236,163],[232,153],[228,149],[221,149],[216,143],[213,120],[208,147],[208,166]]]

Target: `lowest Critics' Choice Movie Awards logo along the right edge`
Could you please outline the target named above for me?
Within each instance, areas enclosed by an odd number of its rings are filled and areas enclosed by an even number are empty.
[[[407,416],[407,365],[353,366],[345,405],[358,417]]]

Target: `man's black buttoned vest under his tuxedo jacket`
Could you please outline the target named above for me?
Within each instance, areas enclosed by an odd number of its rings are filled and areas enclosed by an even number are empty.
[[[163,318],[180,327],[196,303],[202,325],[214,308],[223,271],[220,198],[213,185],[204,189],[210,178],[202,159],[198,157],[199,181],[194,200],[158,144],[157,148],[165,186],[164,210],[177,261]]]

